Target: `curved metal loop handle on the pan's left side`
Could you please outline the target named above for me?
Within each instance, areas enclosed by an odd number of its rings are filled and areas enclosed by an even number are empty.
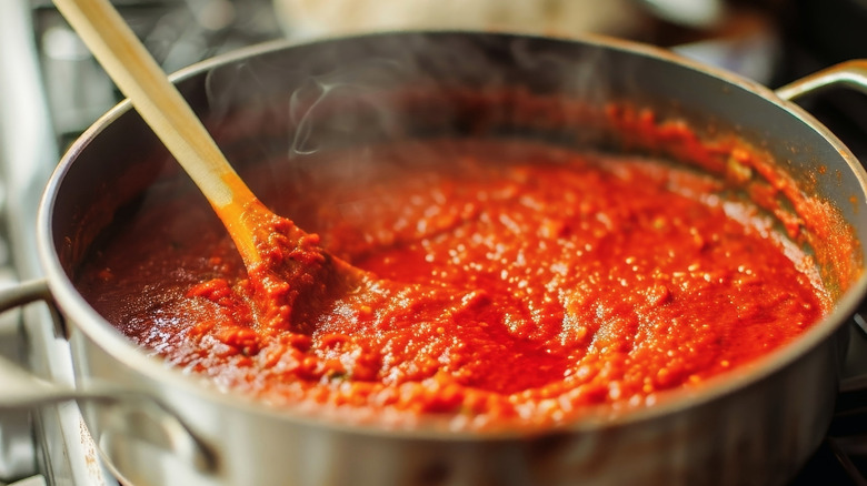
[[[0,312],[31,302],[51,304],[44,280],[24,282],[0,291]],[[147,393],[114,385],[76,388],[42,379],[0,356],[0,411],[17,411],[68,401],[88,401],[100,406],[103,423],[100,445],[109,458],[123,456],[130,439],[168,450],[200,473],[216,474],[216,453],[163,402]],[[123,468],[118,466],[119,470]]]

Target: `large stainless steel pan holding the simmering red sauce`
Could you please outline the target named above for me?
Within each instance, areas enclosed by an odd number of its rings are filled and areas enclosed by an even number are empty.
[[[302,158],[370,140],[486,130],[608,143],[610,133],[591,125],[516,124],[509,107],[468,104],[455,93],[512,90],[527,94],[512,99],[578,100],[589,113],[626,100],[760,146],[867,242],[867,174],[790,101],[826,87],[867,90],[866,74],[867,62],[856,61],[774,92],[615,40],[406,32],[262,45],[198,64],[176,81],[239,163],[275,151]],[[46,190],[38,223],[46,280],[3,296],[4,307],[49,300],[59,308],[77,386],[37,383],[4,365],[3,379],[17,386],[4,389],[0,407],[78,399],[111,467],[137,485],[781,484],[826,433],[847,320],[867,286],[858,269],[836,282],[846,290],[834,311],[797,342],[645,411],[530,432],[353,425],[218,392],[146,355],[78,294],[70,275],[98,231],[148,186],[177,176],[130,105],[118,105],[76,142]],[[867,260],[865,249],[857,252],[855,261]]]

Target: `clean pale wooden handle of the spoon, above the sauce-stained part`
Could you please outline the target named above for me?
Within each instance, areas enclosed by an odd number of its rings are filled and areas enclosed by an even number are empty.
[[[108,0],[54,4],[215,209],[256,199]]]

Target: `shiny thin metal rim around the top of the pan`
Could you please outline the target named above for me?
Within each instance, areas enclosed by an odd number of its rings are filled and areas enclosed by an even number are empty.
[[[474,31],[413,31],[408,33],[425,36],[481,34],[489,37],[498,36],[504,38],[534,37],[527,34]],[[338,39],[348,40],[361,37],[386,37],[396,34],[401,36],[407,34],[407,32],[367,33],[341,37]],[[851,152],[836,138],[836,135],[834,135],[826,126],[819,123],[809,113],[793,102],[779,99],[776,97],[774,91],[767,87],[750,80],[746,80],[725,70],[685,59],[679,54],[667,51],[665,49],[632,41],[606,38],[601,36],[582,36],[580,38],[569,39],[545,39],[560,40],[562,42],[582,42],[605,49],[627,51],[637,55],[651,57],[664,62],[679,64],[686,69],[701,71],[710,77],[719,79],[720,81],[749,91],[757,97],[763,98],[765,101],[776,104],[793,117],[801,120],[805,124],[809,125],[810,129],[818,132],[846,161],[847,165],[853,172],[853,175],[858,179],[863,194],[867,194],[867,173],[865,173],[864,168],[858,163]],[[178,71],[170,78],[173,82],[180,82],[200,72],[220,65],[230,64],[235,61],[247,59],[249,57],[280,51],[283,49],[293,49],[311,43],[330,41],[332,41],[332,39],[321,39],[303,42],[289,40],[271,41],[263,44],[240,49],[231,53],[196,63]],[[795,342],[784,346],[783,348],[776,350],[775,352],[750,364],[748,366],[748,371],[740,368],[740,371],[735,373],[725,374],[715,377],[714,379],[709,379],[700,388],[700,391],[677,389],[666,392],[665,399],[658,404],[645,408],[630,409],[612,415],[610,411],[606,411],[606,408],[609,408],[606,405],[590,407],[594,409],[594,413],[588,413],[586,416],[579,417],[574,422],[569,422],[562,426],[557,427],[546,426],[542,428],[534,427],[530,429],[517,427],[505,431],[470,429],[457,432],[444,427],[428,427],[423,425],[406,428],[389,428],[376,423],[336,423],[332,421],[333,417],[329,416],[329,414],[311,414],[307,412],[296,412],[287,408],[277,408],[268,404],[257,402],[253,398],[248,399],[246,397],[239,398],[237,396],[232,396],[228,393],[217,389],[216,386],[208,386],[207,384],[203,385],[202,382],[207,383],[206,379],[198,376],[179,373],[178,369],[166,366],[162,360],[146,355],[139,346],[117,332],[117,330],[111,326],[110,323],[102,318],[92,307],[90,307],[89,304],[87,304],[83,297],[81,297],[74,290],[71,281],[62,270],[62,265],[53,245],[54,239],[51,234],[51,227],[56,196],[63,183],[64,175],[72,168],[73,162],[80,152],[86,150],[90,141],[99,136],[106,126],[131,109],[132,108],[129,101],[124,100],[118,103],[99,120],[97,120],[62,156],[57,170],[48,182],[39,206],[37,244],[40,260],[42,261],[52,295],[54,296],[57,305],[60,307],[63,314],[69,316],[69,320],[73,322],[72,326],[74,326],[76,330],[81,331],[102,351],[111,355],[114,360],[131,367],[136,373],[140,373],[153,379],[155,382],[170,385],[172,388],[181,389],[185,393],[195,394],[207,402],[216,402],[223,406],[239,409],[243,413],[251,413],[267,417],[268,419],[292,421],[305,423],[307,425],[316,425],[335,431],[345,431],[359,434],[388,435],[396,437],[407,436],[412,438],[429,438],[438,441],[498,441],[525,437],[528,434],[538,435],[540,433],[545,434],[550,432],[590,432],[598,431],[600,428],[614,428],[637,422],[651,421],[717,401],[722,396],[734,394],[739,389],[759,383],[763,379],[783,371],[787,366],[795,363],[797,360],[808,354],[810,351],[830,341],[834,335],[840,331],[844,325],[847,324],[848,317],[855,312],[864,295],[867,294],[867,275],[861,272],[861,275],[858,277],[858,280],[851,285],[845,295],[839,298],[831,313],[829,313],[820,322],[816,323],[816,325],[799,336]]]

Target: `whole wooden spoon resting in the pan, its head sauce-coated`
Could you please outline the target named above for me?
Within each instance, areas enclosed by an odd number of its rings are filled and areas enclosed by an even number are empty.
[[[247,266],[260,323],[309,327],[323,300],[359,284],[363,272],[253,195],[108,0],[54,4],[216,210]]]

